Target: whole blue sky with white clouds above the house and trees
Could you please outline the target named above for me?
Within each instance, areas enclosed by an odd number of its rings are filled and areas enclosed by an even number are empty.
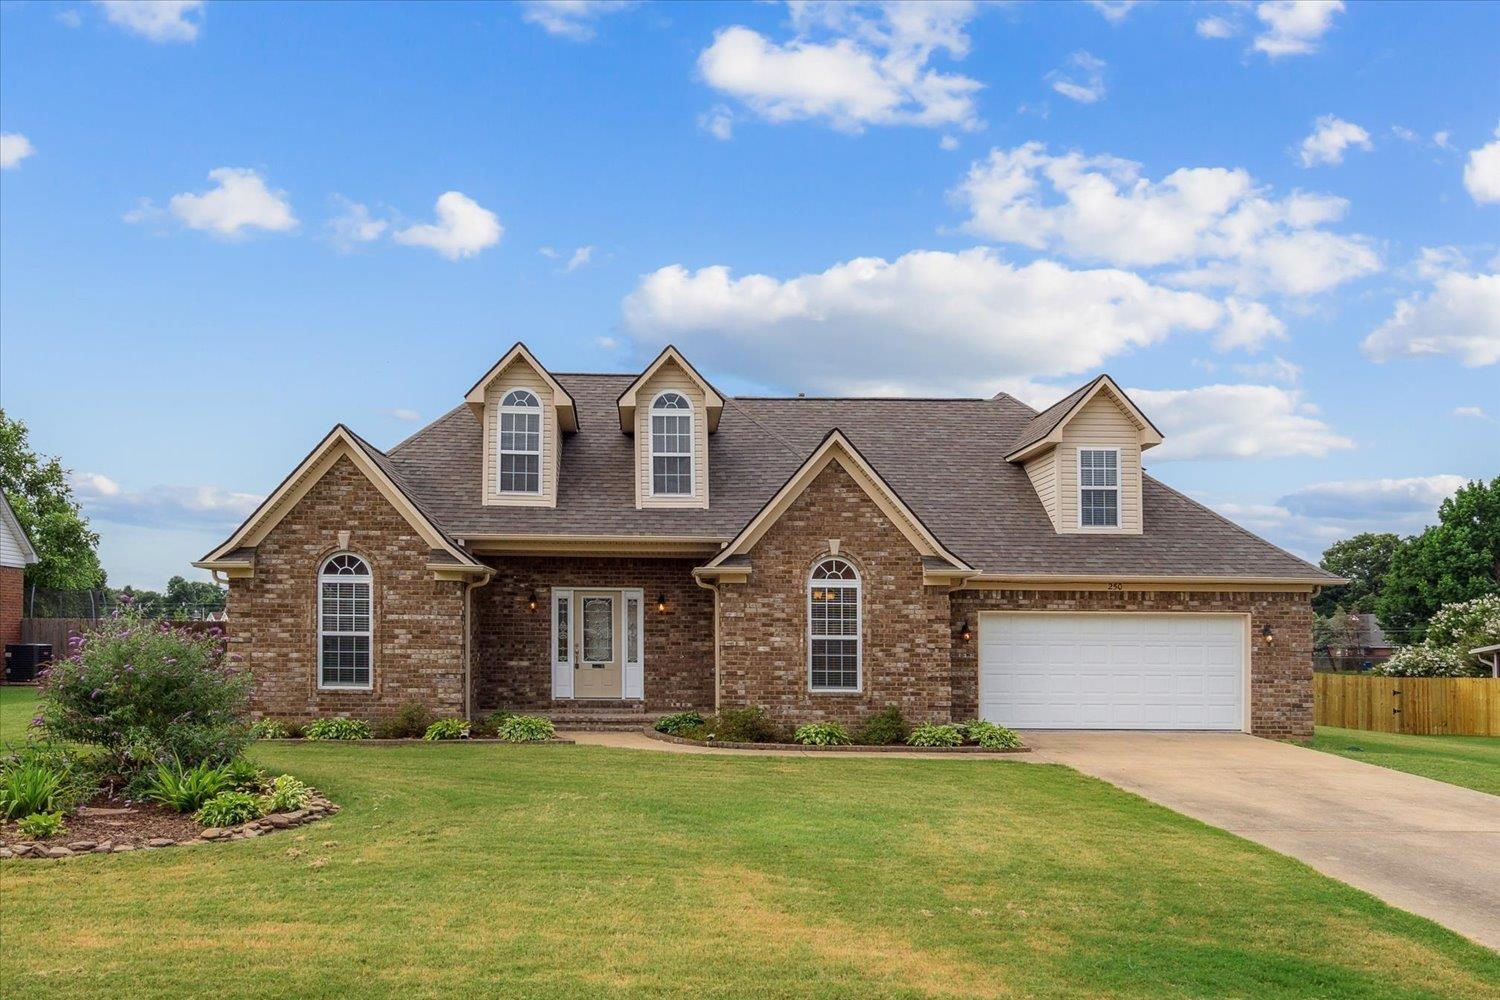
[[[116,585],[514,340],[1046,405],[1306,556],[1500,472],[1500,4],[0,6],[0,403]],[[982,433],[982,429],[975,429]]]

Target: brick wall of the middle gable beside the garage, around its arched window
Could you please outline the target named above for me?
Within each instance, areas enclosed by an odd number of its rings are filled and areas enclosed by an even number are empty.
[[[807,574],[838,538],[862,586],[862,690],[808,691]],[[722,702],[765,706],[780,723],[858,724],[891,705],[948,721],[948,595],[922,586],[921,556],[837,463],[824,469],[750,552],[746,583],[720,600]]]

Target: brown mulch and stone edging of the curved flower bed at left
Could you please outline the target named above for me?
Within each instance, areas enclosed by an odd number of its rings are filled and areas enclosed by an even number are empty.
[[[46,840],[27,840],[15,823],[0,823],[0,859],[69,858],[72,855],[123,855],[230,840],[250,840],[278,829],[321,820],[339,811],[314,792],[308,808],[272,813],[240,826],[204,829],[192,816],[172,813],[152,802],[132,802],[100,795],[78,807],[66,820],[68,829]]]

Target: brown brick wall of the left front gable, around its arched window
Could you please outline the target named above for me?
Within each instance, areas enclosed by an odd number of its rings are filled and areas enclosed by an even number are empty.
[[[374,690],[320,691],[318,568],[339,550],[375,577]],[[434,580],[430,549],[346,457],[303,496],[255,552],[255,576],[230,580],[230,649],[255,676],[256,717],[374,720],[406,702],[464,714],[464,585]]]

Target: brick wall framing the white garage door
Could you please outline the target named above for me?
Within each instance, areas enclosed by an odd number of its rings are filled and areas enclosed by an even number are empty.
[[[980,700],[981,610],[1017,612],[1234,612],[1251,628],[1250,720],[1256,736],[1312,735],[1312,607],[1306,594],[1196,591],[960,591],[952,595],[954,715],[974,718]],[[968,619],[972,639],[958,637]],[[1262,628],[1275,634],[1268,646]]]

